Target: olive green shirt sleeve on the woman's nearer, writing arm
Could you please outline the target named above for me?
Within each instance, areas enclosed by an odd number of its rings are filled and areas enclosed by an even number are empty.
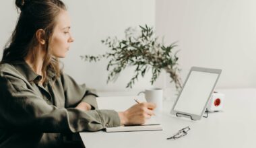
[[[1,73],[0,90],[0,127],[9,130],[75,133],[120,126],[119,116],[114,110],[84,112],[51,106],[20,77]]]

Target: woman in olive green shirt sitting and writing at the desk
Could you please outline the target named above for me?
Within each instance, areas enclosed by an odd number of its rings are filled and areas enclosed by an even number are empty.
[[[73,38],[60,0],[16,0],[20,17],[0,64],[0,147],[59,147],[69,133],[143,124],[154,104],[96,110],[96,95],[59,69]]]

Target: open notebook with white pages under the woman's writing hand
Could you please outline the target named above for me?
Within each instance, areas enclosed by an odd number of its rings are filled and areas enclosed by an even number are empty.
[[[136,104],[134,99],[139,100],[139,102],[146,102],[143,96],[115,96],[115,97],[98,97],[96,98],[98,103],[98,108],[101,110],[116,110],[117,112],[122,112]],[[135,126],[118,126],[118,127],[108,127],[106,132],[124,132],[124,131],[156,131],[162,130],[162,125],[160,122],[152,116],[145,124],[135,125]]]

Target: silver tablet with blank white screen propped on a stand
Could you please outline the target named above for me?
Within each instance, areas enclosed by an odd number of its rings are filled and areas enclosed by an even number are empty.
[[[200,120],[221,72],[221,69],[192,67],[170,113]]]

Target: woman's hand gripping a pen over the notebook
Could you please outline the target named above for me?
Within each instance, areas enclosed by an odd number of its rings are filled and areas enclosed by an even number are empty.
[[[143,124],[146,122],[146,119],[154,115],[155,108],[156,104],[153,103],[143,102],[135,104],[128,110],[125,110],[125,112],[119,112],[121,125]]]

